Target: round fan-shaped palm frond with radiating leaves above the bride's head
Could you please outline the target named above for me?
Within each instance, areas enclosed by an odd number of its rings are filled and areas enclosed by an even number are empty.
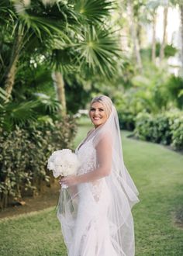
[[[116,71],[120,50],[116,36],[102,27],[88,26],[83,31],[83,40],[78,43],[78,64],[88,66],[93,73],[110,77]]]

